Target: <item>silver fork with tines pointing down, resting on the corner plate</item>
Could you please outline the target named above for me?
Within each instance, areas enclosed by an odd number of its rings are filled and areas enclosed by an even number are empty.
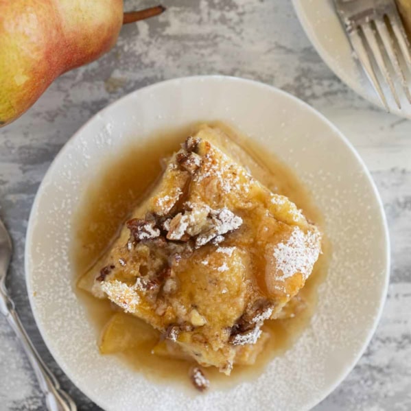
[[[358,60],[390,111],[381,80],[388,84],[399,109],[401,102],[395,88],[398,81],[411,103],[407,73],[411,74],[410,42],[394,0],[334,0],[336,9]],[[402,60],[402,61],[401,61]],[[397,80],[392,80],[392,75]]]

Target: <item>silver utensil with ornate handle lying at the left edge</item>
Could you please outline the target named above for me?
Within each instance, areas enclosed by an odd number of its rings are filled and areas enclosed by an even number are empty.
[[[45,395],[47,410],[49,411],[76,411],[74,401],[60,388],[60,384],[53,373],[41,359],[34,348],[29,336],[25,332],[20,318],[14,309],[14,303],[5,287],[5,277],[8,272],[8,265],[12,255],[12,242],[8,231],[0,220],[0,312],[7,318],[10,326],[14,329],[17,337],[23,345],[23,349],[32,364],[34,373],[40,384],[40,388]]]

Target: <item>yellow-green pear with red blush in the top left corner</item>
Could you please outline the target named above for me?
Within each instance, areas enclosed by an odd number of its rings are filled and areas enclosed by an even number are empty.
[[[122,24],[123,0],[0,0],[0,126],[60,74],[106,53]]]

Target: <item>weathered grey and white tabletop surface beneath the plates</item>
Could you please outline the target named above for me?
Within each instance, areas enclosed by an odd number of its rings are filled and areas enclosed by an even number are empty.
[[[27,219],[47,167],[71,135],[108,103],[141,86],[193,74],[236,75],[273,84],[308,102],[355,145],[388,217],[392,269],[377,332],[349,377],[317,411],[411,410],[411,121],[384,113],[347,89],[322,62],[289,0],[170,0],[160,18],[124,27],[117,46],[62,75],[21,119],[0,130],[0,215],[15,252],[8,285],[45,362],[78,403],[40,338],[27,298]],[[126,0],[126,9],[153,5]],[[0,410],[43,410],[19,342],[0,318]]]

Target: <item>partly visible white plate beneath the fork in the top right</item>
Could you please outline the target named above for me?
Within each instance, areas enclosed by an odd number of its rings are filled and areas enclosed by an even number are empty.
[[[373,87],[357,61],[351,45],[338,19],[333,0],[292,0],[301,25],[322,60],[355,93],[383,108]],[[384,87],[386,95],[390,92]],[[402,110],[392,98],[388,99],[392,113],[411,118],[411,105],[401,92]]]

